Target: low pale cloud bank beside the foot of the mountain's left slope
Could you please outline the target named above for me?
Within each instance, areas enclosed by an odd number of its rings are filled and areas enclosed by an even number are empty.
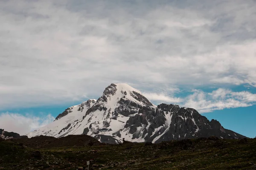
[[[55,118],[51,115],[45,115],[42,117],[34,115],[21,115],[19,113],[4,112],[0,113],[0,128],[8,131],[25,135],[26,133],[36,130],[39,127],[43,127]]]

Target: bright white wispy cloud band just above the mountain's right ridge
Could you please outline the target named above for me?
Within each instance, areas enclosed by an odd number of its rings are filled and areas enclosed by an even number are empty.
[[[176,91],[177,92],[177,91]],[[241,91],[233,92],[231,89],[218,88],[212,92],[194,89],[191,95],[183,98],[174,97],[166,93],[144,92],[143,95],[154,104],[179,104],[180,107],[190,107],[200,113],[212,112],[236,107],[248,107],[256,104],[256,94]]]

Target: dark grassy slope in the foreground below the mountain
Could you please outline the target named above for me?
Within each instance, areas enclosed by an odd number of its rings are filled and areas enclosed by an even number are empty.
[[[160,144],[26,147],[0,141],[0,170],[256,170],[256,139],[186,139]]]

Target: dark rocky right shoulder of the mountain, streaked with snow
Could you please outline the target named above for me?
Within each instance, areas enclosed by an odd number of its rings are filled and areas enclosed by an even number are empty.
[[[133,139],[142,137],[145,141],[155,143],[210,136],[220,139],[245,138],[243,135],[224,129],[216,120],[209,121],[195,109],[180,108],[173,104],[160,104],[157,109],[152,107],[139,109],[138,114],[130,117],[126,122],[125,128],[128,127]],[[141,130],[142,135],[137,133],[139,127],[144,127]]]

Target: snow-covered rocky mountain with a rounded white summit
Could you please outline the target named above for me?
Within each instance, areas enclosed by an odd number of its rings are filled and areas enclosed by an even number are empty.
[[[195,109],[173,104],[155,106],[127,84],[111,84],[96,101],[67,108],[55,121],[28,135],[90,135],[106,143],[161,142],[172,139],[209,137],[245,138],[200,115]]]

